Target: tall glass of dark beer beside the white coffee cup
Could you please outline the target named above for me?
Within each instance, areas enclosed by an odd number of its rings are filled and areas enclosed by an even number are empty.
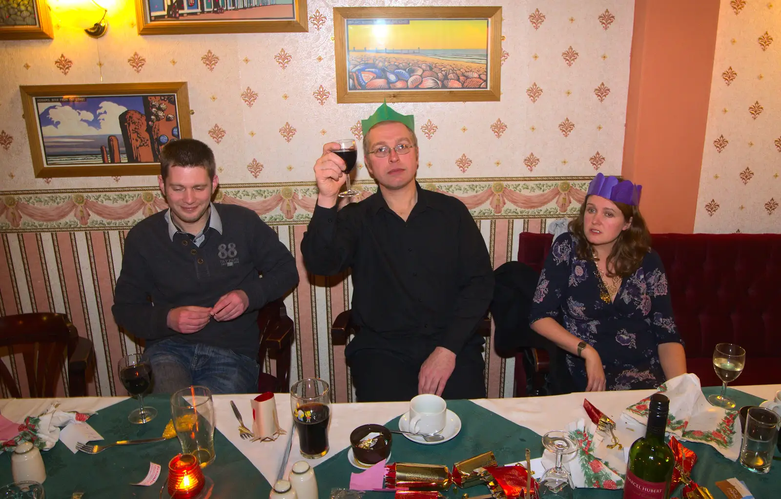
[[[291,387],[293,422],[305,458],[321,458],[328,453],[329,398],[328,383],[319,378],[307,378]]]

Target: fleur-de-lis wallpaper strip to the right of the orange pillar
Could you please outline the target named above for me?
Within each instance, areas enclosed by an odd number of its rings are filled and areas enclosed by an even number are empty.
[[[781,226],[781,4],[722,0],[694,232]]]

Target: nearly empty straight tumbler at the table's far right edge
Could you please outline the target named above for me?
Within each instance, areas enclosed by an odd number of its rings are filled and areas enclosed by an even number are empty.
[[[770,409],[752,407],[746,415],[743,444],[740,445],[740,464],[755,473],[767,473],[776,452],[781,416]]]

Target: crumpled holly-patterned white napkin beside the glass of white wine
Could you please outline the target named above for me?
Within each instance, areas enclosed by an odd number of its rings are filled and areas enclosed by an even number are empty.
[[[668,380],[659,391],[670,399],[667,433],[672,433],[678,440],[708,444],[729,460],[737,460],[743,440],[735,430],[737,411],[710,405],[702,394],[700,379],[691,373]],[[621,417],[645,425],[650,399],[647,397],[630,405]]]

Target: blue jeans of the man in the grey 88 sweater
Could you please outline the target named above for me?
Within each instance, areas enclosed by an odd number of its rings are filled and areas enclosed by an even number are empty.
[[[226,348],[161,340],[144,351],[152,364],[152,393],[173,394],[202,385],[212,394],[254,394],[260,366],[255,359]]]

